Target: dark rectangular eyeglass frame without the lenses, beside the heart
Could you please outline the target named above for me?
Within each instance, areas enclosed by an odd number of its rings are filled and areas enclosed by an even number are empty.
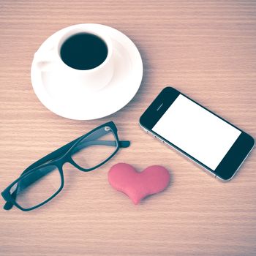
[[[113,151],[113,153],[110,155],[110,157],[105,159],[99,165],[96,165],[96,166],[91,167],[91,168],[80,167],[80,165],[75,163],[75,161],[72,159],[72,149],[75,148],[76,146],[78,146],[80,141],[82,141],[84,138],[91,135],[93,132],[97,131],[97,129],[101,129],[102,127],[109,127],[112,130],[113,135],[116,139],[116,150]],[[34,162],[33,164],[29,165],[29,167],[27,167],[23,171],[23,173],[20,174],[19,178],[17,178],[15,181],[13,181],[6,189],[4,189],[3,192],[1,192],[1,196],[6,201],[6,203],[4,205],[4,209],[5,210],[10,210],[12,208],[12,206],[16,206],[21,211],[31,211],[31,210],[34,210],[35,208],[39,208],[40,206],[43,206],[45,203],[48,203],[50,200],[52,200],[54,197],[56,197],[56,195],[58,195],[59,192],[61,192],[61,190],[63,189],[63,187],[64,187],[63,165],[65,163],[69,162],[71,165],[78,168],[78,170],[81,170],[83,172],[89,172],[91,170],[95,170],[98,167],[104,165],[106,162],[108,162],[117,153],[117,151],[120,148],[127,148],[127,147],[129,147],[129,145],[130,145],[129,140],[119,140],[118,139],[117,127],[116,127],[116,124],[114,124],[113,121],[109,121],[108,123],[102,124],[99,127],[96,127],[94,129],[92,129],[90,132],[80,136],[79,138],[76,138],[75,140],[72,140],[71,142],[67,143],[66,145],[61,146],[61,148],[58,148],[55,151],[51,152],[50,154],[47,154],[45,157],[42,157],[41,159],[37,160],[37,162]],[[25,176],[28,176],[29,174],[31,174],[34,170],[37,170],[37,169],[42,168],[42,167],[51,166],[51,165],[56,166],[57,169],[59,170],[59,173],[60,173],[60,176],[61,176],[61,186],[59,187],[59,189],[51,197],[49,197],[47,200],[45,200],[44,202],[39,203],[37,206],[33,206],[31,208],[23,208],[18,203],[16,203],[15,198],[13,198],[12,194],[10,193],[10,189],[12,189],[12,187],[16,183],[18,184],[18,181],[20,181]],[[17,191],[17,188],[16,188],[15,192],[16,191]]]

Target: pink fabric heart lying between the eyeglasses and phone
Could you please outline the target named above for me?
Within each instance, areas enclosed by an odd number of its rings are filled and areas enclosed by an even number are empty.
[[[138,173],[132,165],[118,163],[110,168],[108,181],[113,188],[124,192],[138,204],[147,195],[164,190],[169,184],[170,174],[160,165],[149,166]]]

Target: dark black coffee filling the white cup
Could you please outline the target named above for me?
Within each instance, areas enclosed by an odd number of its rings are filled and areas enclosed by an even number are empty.
[[[93,69],[102,64],[107,56],[107,45],[94,34],[75,34],[61,46],[62,61],[74,69]]]

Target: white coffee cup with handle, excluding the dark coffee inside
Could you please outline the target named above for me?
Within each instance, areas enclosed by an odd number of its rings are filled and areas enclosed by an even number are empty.
[[[108,55],[105,61],[93,69],[75,69],[69,67],[61,59],[61,46],[63,43],[75,34],[89,33],[102,39],[108,48]],[[86,45],[85,45],[86,47]],[[98,26],[88,28],[84,24],[69,26],[61,29],[56,37],[48,43],[47,47],[40,48],[34,53],[34,63],[42,72],[51,72],[54,75],[54,82],[50,85],[50,91],[62,94],[75,92],[77,95],[81,92],[95,92],[105,87],[113,77],[113,44],[108,34],[103,34]],[[74,94],[75,95],[75,94]]]

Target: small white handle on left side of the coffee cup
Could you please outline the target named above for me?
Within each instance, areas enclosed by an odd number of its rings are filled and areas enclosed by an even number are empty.
[[[54,50],[34,53],[34,63],[40,70],[48,71],[48,69],[56,65],[57,61],[58,58]]]

